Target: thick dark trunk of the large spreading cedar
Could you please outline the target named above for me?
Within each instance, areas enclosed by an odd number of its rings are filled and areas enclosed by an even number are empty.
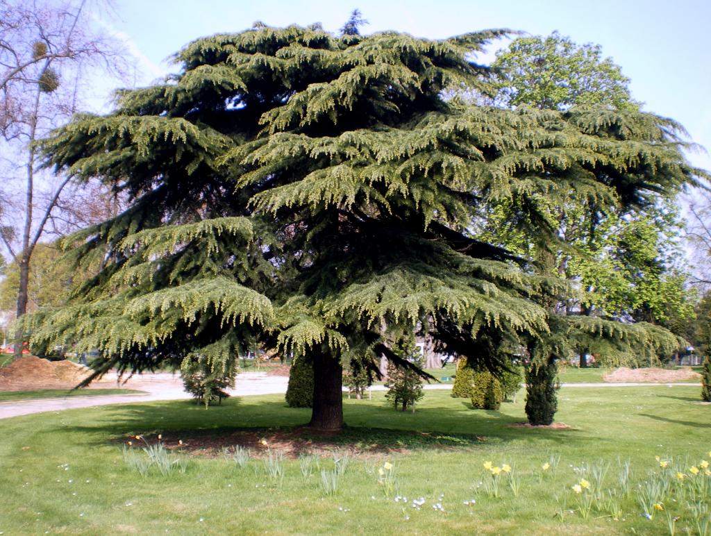
[[[343,368],[333,356],[314,353],[314,407],[309,427],[335,431],[343,428]]]

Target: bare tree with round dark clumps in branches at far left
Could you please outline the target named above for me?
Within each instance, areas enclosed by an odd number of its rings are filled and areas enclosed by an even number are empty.
[[[94,31],[87,0],[0,0],[0,185],[9,198],[0,240],[18,264],[17,318],[26,313],[33,251],[58,217],[69,176],[43,178],[36,141],[77,110],[90,69],[122,62],[111,38]],[[56,222],[55,222],[56,223]],[[21,352],[22,333],[15,334]]]

